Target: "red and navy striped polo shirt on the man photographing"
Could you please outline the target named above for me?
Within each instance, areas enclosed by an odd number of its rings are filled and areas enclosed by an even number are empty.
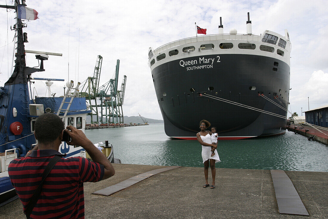
[[[12,160],[8,173],[24,213],[41,182],[42,174],[55,150],[34,150],[26,158]],[[88,159],[61,158],[43,183],[39,200],[30,218],[84,218],[83,182],[98,182],[104,176],[104,166]]]

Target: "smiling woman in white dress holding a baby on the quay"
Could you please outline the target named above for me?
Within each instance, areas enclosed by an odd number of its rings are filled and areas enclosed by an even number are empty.
[[[212,185],[211,189],[215,188],[215,163],[220,161],[219,155],[216,151],[217,148],[217,142],[216,144],[212,144],[211,135],[212,133],[210,131],[206,131],[208,127],[211,126],[211,123],[207,120],[202,120],[199,123],[200,132],[196,134],[198,142],[202,145],[202,158],[204,163],[204,175],[205,175],[205,185],[203,185],[204,188],[210,186],[208,183],[208,167],[211,167],[212,172]],[[211,147],[215,148],[215,155],[211,157],[212,151]]]

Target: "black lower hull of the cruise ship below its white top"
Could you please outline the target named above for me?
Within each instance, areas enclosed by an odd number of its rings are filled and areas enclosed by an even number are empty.
[[[217,128],[219,139],[285,132],[290,67],[284,61],[261,55],[202,55],[168,60],[154,67],[152,76],[165,133],[170,137],[196,139],[202,119]],[[199,95],[204,92],[285,118]]]

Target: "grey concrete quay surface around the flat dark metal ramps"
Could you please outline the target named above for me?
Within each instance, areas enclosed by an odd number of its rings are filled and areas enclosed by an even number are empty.
[[[310,215],[300,216],[279,214],[270,170],[216,168],[215,189],[210,189],[202,187],[205,184],[203,168],[179,167],[111,196],[92,194],[165,167],[113,165],[113,177],[84,183],[85,218],[328,218],[328,172],[285,171]],[[211,173],[209,179],[212,179]],[[26,218],[19,200],[0,207],[0,215],[1,218]]]

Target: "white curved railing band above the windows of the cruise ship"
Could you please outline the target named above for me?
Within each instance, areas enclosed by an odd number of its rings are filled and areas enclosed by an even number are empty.
[[[187,43],[195,43],[202,41],[210,41],[210,40],[250,40],[250,41],[259,41],[261,36],[258,35],[247,35],[247,34],[212,34],[206,36],[197,36],[197,37],[189,37],[185,39],[179,39],[170,43],[167,43],[163,46],[158,47],[154,50],[154,54],[157,54],[166,49],[170,49],[176,46],[184,45]]]

